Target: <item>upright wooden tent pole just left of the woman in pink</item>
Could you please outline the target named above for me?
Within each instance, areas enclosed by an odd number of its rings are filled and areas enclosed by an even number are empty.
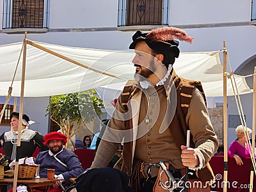
[[[223,138],[224,138],[224,177],[223,192],[227,191],[228,180],[228,152],[227,152],[227,50],[223,41]]]

